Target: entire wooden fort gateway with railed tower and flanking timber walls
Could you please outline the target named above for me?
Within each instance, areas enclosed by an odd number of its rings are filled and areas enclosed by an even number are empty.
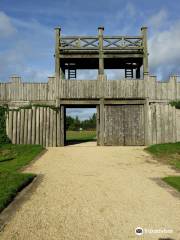
[[[0,83],[8,104],[6,128],[13,143],[64,146],[65,109],[97,108],[98,145],[148,145],[180,141],[176,76],[157,81],[148,71],[147,28],[139,36],[61,36],[55,29],[55,77],[47,83]],[[96,80],[78,80],[77,69],[97,69]],[[109,80],[106,69],[124,69]]]

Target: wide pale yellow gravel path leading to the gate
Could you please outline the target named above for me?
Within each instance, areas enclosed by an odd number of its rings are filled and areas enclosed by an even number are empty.
[[[43,179],[2,240],[180,239],[180,198],[159,178],[177,174],[143,147],[49,148],[26,171]],[[136,236],[137,226],[172,229]]]

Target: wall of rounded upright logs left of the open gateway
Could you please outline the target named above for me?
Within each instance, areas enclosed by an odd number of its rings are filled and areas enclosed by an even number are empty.
[[[50,107],[10,109],[6,124],[7,135],[14,144],[60,146],[60,110]]]

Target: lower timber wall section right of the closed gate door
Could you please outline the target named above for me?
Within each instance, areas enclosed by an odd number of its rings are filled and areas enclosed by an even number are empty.
[[[170,104],[151,103],[149,107],[149,144],[176,142],[180,116]]]

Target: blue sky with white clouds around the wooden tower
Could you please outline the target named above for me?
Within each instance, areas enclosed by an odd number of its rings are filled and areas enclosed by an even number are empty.
[[[148,27],[150,74],[180,74],[178,0],[0,0],[0,81],[47,81],[54,75],[54,28],[63,35],[139,35]],[[86,114],[87,115],[87,114]],[[83,117],[84,118],[84,117]]]

